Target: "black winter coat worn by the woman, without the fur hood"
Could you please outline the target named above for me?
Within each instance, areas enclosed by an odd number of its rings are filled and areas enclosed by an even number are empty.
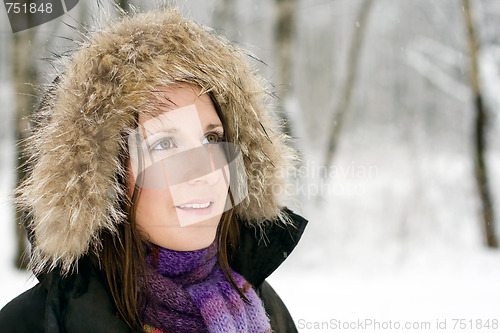
[[[269,224],[266,240],[240,223],[240,245],[231,267],[255,286],[274,332],[297,332],[279,296],[265,279],[286,259],[299,241],[307,220],[286,210],[294,225]],[[88,258],[78,263],[78,273],[61,277],[56,272],[38,277],[40,282],[0,311],[0,332],[130,332],[116,313],[105,281]]]

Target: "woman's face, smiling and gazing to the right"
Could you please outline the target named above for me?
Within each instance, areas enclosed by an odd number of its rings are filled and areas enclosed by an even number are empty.
[[[199,92],[191,84],[160,88],[158,114],[139,116],[141,139],[130,151],[129,195],[136,182],[141,187],[137,228],[146,240],[177,251],[214,241],[228,194],[228,169],[214,166],[221,164],[214,143],[224,128],[210,97]]]

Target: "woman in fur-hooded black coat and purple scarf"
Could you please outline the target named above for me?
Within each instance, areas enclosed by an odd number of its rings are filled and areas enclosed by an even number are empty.
[[[265,279],[307,223],[244,52],[173,10],[109,25],[42,101],[17,189],[40,283],[9,332],[293,332]]]

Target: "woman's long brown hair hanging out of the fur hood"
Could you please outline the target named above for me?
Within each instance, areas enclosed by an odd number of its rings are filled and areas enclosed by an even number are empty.
[[[225,122],[222,112],[215,103],[213,96],[210,95],[210,97],[224,127]],[[138,115],[136,121],[138,123]],[[124,152],[121,155],[121,163],[124,168],[128,165],[128,160],[128,152]],[[126,175],[118,175],[117,179],[119,185],[126,188]],[[118,227],[116,233],[107,231],[102,233],[102,250],[99,253],[104,279],[107,282],[118,314],[133,330],[142,329],[142,296],[148,288],[145,274],[146,249],[144,246],[147,245],[147,242],[141,238],[136,224],[137,204],[140,194],[141,188],[136,183],[132,196],[122,198],[121,207],[126,214],[126,220]],[[234,204],[230,189],[228,196],[231,203]],[[218,240],[218,263],[226,280],[235,288],[242,299],[249,303],[243,291],[236,285],[229,266],[229,262],[238,248],[239,240],[239,227],[233,209],[222,214],[217,227],[216,239]]]

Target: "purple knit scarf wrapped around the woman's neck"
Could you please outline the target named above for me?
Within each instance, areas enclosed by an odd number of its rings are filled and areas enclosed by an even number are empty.
[[[262,301],[231,270],[246,304],[217,263],[217,244],[196,251],[153,246],[146,258],[148,292],[144,323],[149,332],[271,332]]]

